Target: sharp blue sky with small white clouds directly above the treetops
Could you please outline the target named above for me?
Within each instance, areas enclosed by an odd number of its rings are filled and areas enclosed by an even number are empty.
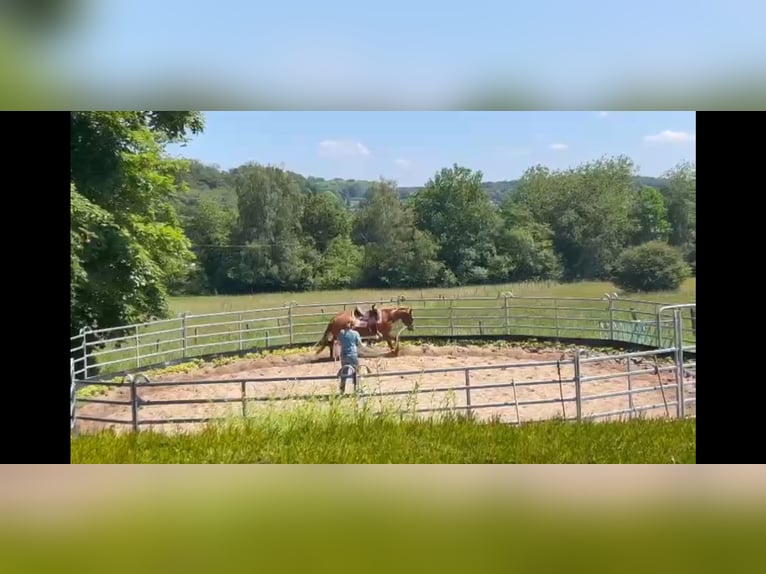
[[[230,169],[282,165],[324,178],[422,185],[442,167],[516,179],[535,164],[553,169],[627,155],[641,175],[696,161],[694,112],[205,112],[205,132],[176,157]]]

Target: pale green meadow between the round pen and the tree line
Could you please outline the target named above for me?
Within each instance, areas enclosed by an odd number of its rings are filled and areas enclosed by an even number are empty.
[[[138,327],[128,338],[109,343],[107,354],[102,354],[98,362],[103,365],[102,373],[108,374],[213,353],[257,351],[289,343],[313,344],[321,337],[332,315],[348,307],[349,303],[391,304],[397,300],[401,305],[413,308],[416,328],[413,334],[421,337],[555,335],[585,338],[614,336],[620,340],[634,340],[632,335],[615,334],[603,326],[609,315],[607,302],[601,298],[605,293],[615,291],[611,283],[583,282],[176,297],[170,302],[173,313],[193,316],[186,320],[175,318]],[[515,297],[506,299],[503,297],[505,293],[513,293]],[[550,299],[553,297],[562,299],[553,301]],[[577,299],[567,301],[563,298]],[[675,292],[621,295],[614,304],[613,318],[629,322],[635,313],[635,317],[651,321],[657,304],[694,301],[696,280],[690,279]],[[287,306],[291,304],[294,307],[288,310]],[[200,316],[207,313],[219,315]],[[685,324],[687,332],[691,333],[688,315]],[[670,335],[669,330],[666,335]],[[693,337],[689,340],[694,342]],[[665,344],[670,343],[665,341]]]

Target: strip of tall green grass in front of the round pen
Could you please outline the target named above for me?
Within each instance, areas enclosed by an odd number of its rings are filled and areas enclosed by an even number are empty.
[[[198,433],[104,431],[75,437],[80,464],[694,464],[696,420],[545,421],[514,427],[464,415],[429,419],[307,403]]]

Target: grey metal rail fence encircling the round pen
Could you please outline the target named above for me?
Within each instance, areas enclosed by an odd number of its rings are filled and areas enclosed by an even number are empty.
[[[696,354],[696,304],[667,305],[659,302],[620,299],[614,295],[603,298],[567,297],[515,297],[501,294],[499,297],[476,298],[396,298],[390,301],[354,301],[346,303],[288,303],[282,307],[226,311],[208,314],[183,313],[174,319],[164,319],[109,329],[83,329],[70,342],[71,359],[71,425],[77,420],[91,420],[131,425],[138,429],[144,424],[166,424],[170,422],[206,422],[211,417],[187,417],[184,419],[142,419],[139,411],[158,405],[240,403],[245,414],[247,405],[261,400],[248,393],[253,385],[266,386],[269,383],[310,381],[314,383],[337,381],[337,376],[293,377],[289,379],[246,379],[226,381],[155,381],[149,383],[144,375],[133,375],[141,369],[191,361],[228,353],[263,351],[274,347],[306,346],[316,343],[323,335],[330,319],[338,312],[355,306],[367,307],[375,303],[378,307],[409,307],[413,310],[414,335],[416,338],[455,338],[465,336],[485,337],[528,337],[556,339],[589,339],[613,343],[635,344],[652,350],[605,357],[588,356],[577,351],[573,360],[515,363],[509,365],[455,367],[428,371],[399,371],[375,374],[380,381],[390,377],[417,377],[424,373],[463,373],[463,384],[444,387],[422,388],[418,393],[459,393],[465,397],[465,404],[451,407],[416,409],[416,412],[434,412],[444,408],[456,410],[481,410],[484,408],[511,407],[516,410],[515,422],[521,422],[519,409],[527,405],[557,404],[561,406],[565,419],[588,419],[614,415],[635,416],[637,413],[664,409],[667,414],[673,409],[677,416],[685,416],[688,407],[696,404],[695,397],[684,394],[684,380],[693,375],[696,380],[696,362],[689,361],[689,354]],[[659,360],[671,357],[670,364],[659,365]],[[626,371],[617,374],[586,374],[591,365],[601,361],[623,361]],[[636,362],[641,362],[638,365]],[[520,369],[527,366],[556,366],[559,370],[571,372],[571,376],[556,380],[501,381],[491,384],[471,383],[471,375],[482,370]],[[110,379],[127,374],[122,382]],[[369,375],[358,375],[367,380]],[[637,377],[656,375],[658,383],[651,387],[632,388]],[[673,377],[672,384],[663,383],[662,376]],[[143,382],[140,379],[143,378]],[[583,394],[585,387],[614,379],[626,379],[624,391],[608,391]],[[354,379],[356,381],[356,378]],[[127,387],[130,397],[124,400],[77,398],[78,388],[88,384]],[[240,394],[226,399],[173,399],[165,401],[144,400],[140,389],[144,386],[189,386],[239,385]],[[530,386],[558,385],[559,396],[551,399],[519,400],[519,389]],[[564,395],[564,386],[572,387],[570,396]],[[360,387],[360,389],[363,385]],[[696,383],[695,383],[696,387]],[[356,385],[355,385],[356,388]],[[514,399],[505,402],[472,402],[472,393],[486,389],[511,389]],[[672,391],[672,392],[671,392]],[[662,395],[658,405],[636,405],[634,397],[646,393]],[[692,391],[693,393],[694,391]],[[406,395],[411,391],[387,390],[370,393],[360,390],[360,396],[384,397]],[[667,395],[672,395],[669,397]],[[298,400],[308,395],[280,396],[276,400]],[[311,395],[314,398],[322,395]],[[325,396],[329,398],[330,395]],[[602,413],[583,414],[583,408],[599,399],[625,396],[628,404],[623,409]],[[269,400],[274,399],[272,397]],[[123,406],[127,410],[124,418],[84,416],[77,413],[76,403],[109,404]],[[569,405],[569,408],[567,408]]]

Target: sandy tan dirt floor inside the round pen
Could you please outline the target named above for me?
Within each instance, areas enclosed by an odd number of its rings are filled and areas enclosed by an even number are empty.
[[[588,351],[584,358],[602,357],[603,360],[593,363],[583,363],[582,376],[596,376],[606,374],[622,374],[619,378],[599,380],[582,383],[583,407],[582,415],[588,416],[597,413],[607,413],[630,408],[629,397],[612,396],[588,400],[594,395],[608,393],[620,393],[628,390],[627,362],[625,359],[616,360],[598,353]],[[576,405],[574,403],[575,385],[572,382],[559,383],[559,372],[556,364],[518,366],[523,363],[545,361],[571,361],[573,352],[550,349],[524,349],[518,346],[405,346],[400,349],[398,357],[368,358],[362,359],[362,365],[366,365],[371,373],[364,375],[361,381],[361,389],[368,395],[367,401],[373,409],[381,405],[400,406],[411,408],[413,404],[419,408],[439,408],[449,406],[465,406],[466,391],[464,388],[451,392],[423,392],[428,389],[443,389],[449,387],[465,386],[465,368],[478,367],[480,365],[498,366],[494,369],[471,370],[470,372],[470,400],[474,407],[474,413],[482,419],[499,415],[503,421],[521,422],[547,419],[553,417],[574,417]],[[660,368],[671,366],[669,363],[660,363]],[[152,377],[152,383],[164,381],[184,382],[192,380],[204,381],[227,381],[230,379],[247,378],[287,378],[287,377],[333,377],[333,380],[310,380],[293,382],[246,382],[245,392],[247,397],[279,397],[299,394],[337,394],[338,379],[335,378],[340,364],[328,359],[325,350],[321,355],[312,352],[301,354],[288,354],[270,356],[254,360],[240,360],[228,365],[214,367],[206,366],[191,373],[168,374]],[[430,369],[458,369],[443,373],[414,373],[410,375],[385,376],[385,373],[398,371],[423,371]],[[630,365],[633,372],[651,369],[654,370],[653,357],[634,359]],[[574,376],[572,364],[560,365],[560,378],[562,381],[572,379]],[[529,385],[537,381],[539,384]],[[685,376],[685,393],[687,398],[695,397],[696,373],[687,373]],[[482,385],[509,385],[500,388],[480,388]],[[653,390],[633,394],[633,407],[654,406],[650,410],[642,411],[646,417],[666,416],[665,403],[676,400],[675,373],[672,370],[659,373],[651,372],[631,376],[631,386],[635,389],[658,387],[665,385],[663,390]],[[420,391],[416,395],[412,393],[417,385]],[[352,392],[352,384],[349,380],[346,385],[346,394]],[[376,397],[375,393],[390,391],[407,391],[396,396]],[[242,415],[242,383],[230,382],[224,384],[195,384],[173,387],[150,385],[140,387],[138,394],[143,401],[166,401],[177,399],[235,399],[232,403],[200,403],[180,405],[151,405],[143,404],[139,409],[139,420],[167,420],[178,418],[197,417],[221,417]],[[663,396],[664,395],[664,396]],[[562,404],[561,397],[564,398]],[[124,400],[130,398],[128,388],[115,388],[98,398],[111,400]],[[567,401],[567,399],[571,399]],[[514,405],[515,401],[540,401],[553,400],[546,404],[519,405],[518,412]],[[272,401],[248,401],[247,414],[257,416],[260,409],[264,408],[290,408],[304,401],[282,400]],[[477,408],[481,405],[493,405],[488,408]],[[694,404],[687,404],[687,414],[693,414]],[[676,407],[668,404],[667,412],[671,417],[676,414]],[[123,405],[105,405],[79,403],[79,415],[88,415],[130,421],[131,409]],[[426,414],[425,416],[429,416]],[[622,415],[626,417],[627,415]],[[637,414],[638,416],[638,414]],[[517,418],[518,417],[518,418]],[[613,417],[603,417],[596,420],[608,420]],[[196,424],[142,424],[141,429],[152,428],[163,432],[189,431]],[[115,430],[130,430],[130,425],[101,423],[92,421],[79,421],[80,432],[92,432],[104,428]]]

